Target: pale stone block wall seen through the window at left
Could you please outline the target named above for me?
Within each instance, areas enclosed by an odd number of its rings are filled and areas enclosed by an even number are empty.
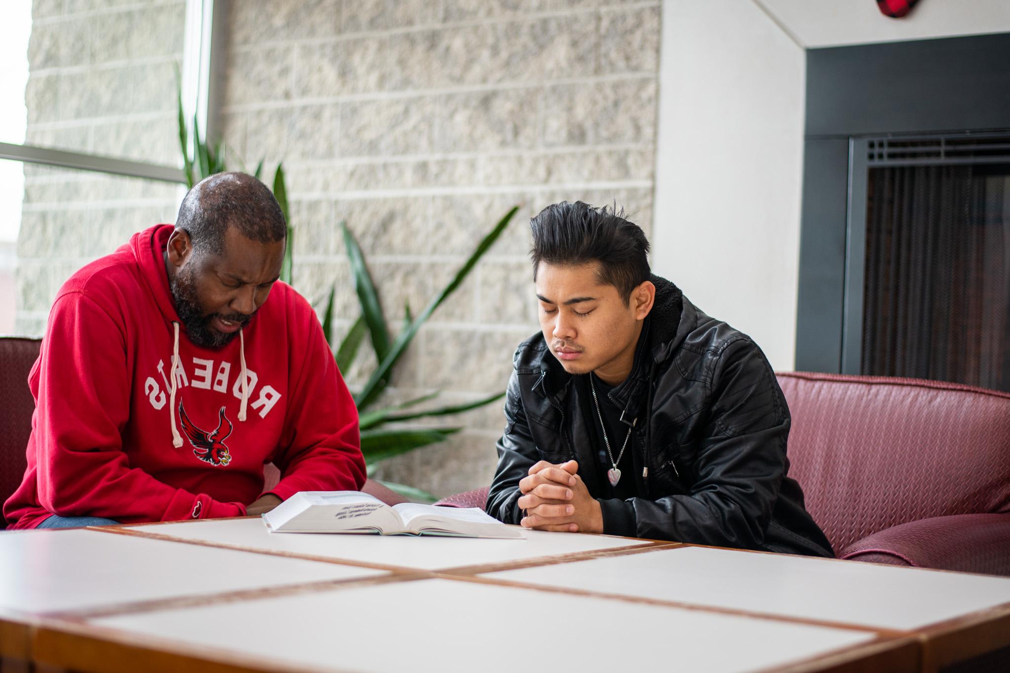
[[[185,0],[34,0],[25,142],[181,164],[176,69]],[[14,331],[38,336],[60,286],[135,231],[172,222],[180,188],[24,164]]]

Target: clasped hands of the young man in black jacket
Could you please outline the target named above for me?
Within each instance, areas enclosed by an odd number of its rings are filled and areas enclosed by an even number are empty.
[[[556,465],[545,460],[529,468],[519,481],[519,509],[523,528],[564,533],[603,533],[600,503],[578,474],[579,463]]]

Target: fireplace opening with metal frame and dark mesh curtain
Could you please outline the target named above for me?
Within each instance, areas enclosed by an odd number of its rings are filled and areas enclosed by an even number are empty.
[[[850,165],[842,369],[1010,389],[1010,134],[860,138]]]

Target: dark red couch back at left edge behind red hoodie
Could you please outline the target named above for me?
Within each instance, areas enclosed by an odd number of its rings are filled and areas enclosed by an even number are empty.
[[[35,411],[28,372],[40,344],[39,339],[0,337],[0,503],[21,485],[27,466],[24,450]]]

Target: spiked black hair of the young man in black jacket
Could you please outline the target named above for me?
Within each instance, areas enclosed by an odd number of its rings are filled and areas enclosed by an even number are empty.
[[[540,262],[576,266],[600,262],[597,278],[617,288],[627,305],[631,292],[648,281],[648,239],[624,211],[593,208],[581,201],[547,206],[529,221],[533,231],[533,281]]]

